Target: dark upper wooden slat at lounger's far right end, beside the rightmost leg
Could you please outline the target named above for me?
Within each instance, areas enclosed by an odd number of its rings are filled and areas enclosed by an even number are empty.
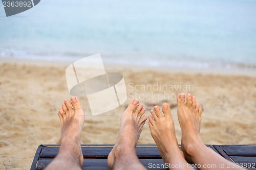
[[[229,156],[256,156],[256,145],[220,145]]]

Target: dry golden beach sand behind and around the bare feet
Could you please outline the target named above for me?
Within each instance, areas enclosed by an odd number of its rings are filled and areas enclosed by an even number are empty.
[[[65,69],[68,64],[33,62],[0,63],[0,169],[29,169],[39,144],[59,144],[58,108],[70,98]],[[256,144],[256,78],[233,74],[200,74],[191,71],[150,70],[149,68],[109,67],[124,75],[128,98],[137,98],[146,108],[164,102],[172,106],[178,141],[181,130],[177,119],[177,93],[192,93],[203,108],[201,137],[207,144]],[[158,86],[157,86],[158,84]],[[172,85],[179,89],[160,89]],[[155,87],[143,89],[145,85]],[[182,89],[180,86],[182,85]],[[189,86],[190,89],[185,89]],[[192,86],[191,86],[192,85]],[[138,90],[132,88],[137,87]],[[158,89],[156,89],[158,87]],[[163,86],[162,86],[163,87]],[[193,88],[192,88],[193,87]],[[167,99],[157,100],[154,94]],[[143,100],[143,96],[152,100]],[[161,95],[163,94],[163,95]],[[159,97],[160,98],[160,97]],[[168,100],[173,98],[174,100]],[[83,97],[82,106],[87,106]],[[106,114],[91,116],[83,107],[86,121],[82,144],[114,144],[120,116],[130,100]],[[104,106],[102,106],[104,107]],[[139,144],[155,144],[145,124]]]

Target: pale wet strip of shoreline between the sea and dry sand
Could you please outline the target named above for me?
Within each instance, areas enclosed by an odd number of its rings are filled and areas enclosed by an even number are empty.
[[[76,60],[74,60],[75,62]],[[0,64],[17,63],[29,64],[36,66],[66,66],[72,62],[69,61],[48,61],[48,60],[32,60],[32,59],[1,59]],[[202,74],[202,75],[222,75],[222,76],[248,76],[256,77],[256,68],[181,68],[181,67],[157,67],[146,65],[128,65],[128,64],[109,64],[103,63],[106,72],[113,70],[130,70],[130,71],[157,71],[157,72],[172,72],[175,74]]]

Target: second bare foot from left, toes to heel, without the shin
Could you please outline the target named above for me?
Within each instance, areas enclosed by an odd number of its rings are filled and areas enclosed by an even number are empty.
[[[108,165],[111,168],[114,166],[115,159],[122,154],[122,149],[135,150],[136,148],[143,125],[147,119],[146,115],[141,117],[145,113],[145,108],[143,108],[142,104],[138,104],[139,101],[134,99],[121,116],[117,141],[108,157]]]

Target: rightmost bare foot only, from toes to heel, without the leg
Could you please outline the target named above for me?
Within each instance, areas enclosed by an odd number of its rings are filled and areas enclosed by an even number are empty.
[[[187,94],[179,94],[178,103],[178,119],[182,131],[181,147],[188,162],[192,162],[192,157],[195,153],[195,148],[199,145],[204,145],[201,141],[199,132],[201,124],[202,108],[196,101],[195,96]]]

